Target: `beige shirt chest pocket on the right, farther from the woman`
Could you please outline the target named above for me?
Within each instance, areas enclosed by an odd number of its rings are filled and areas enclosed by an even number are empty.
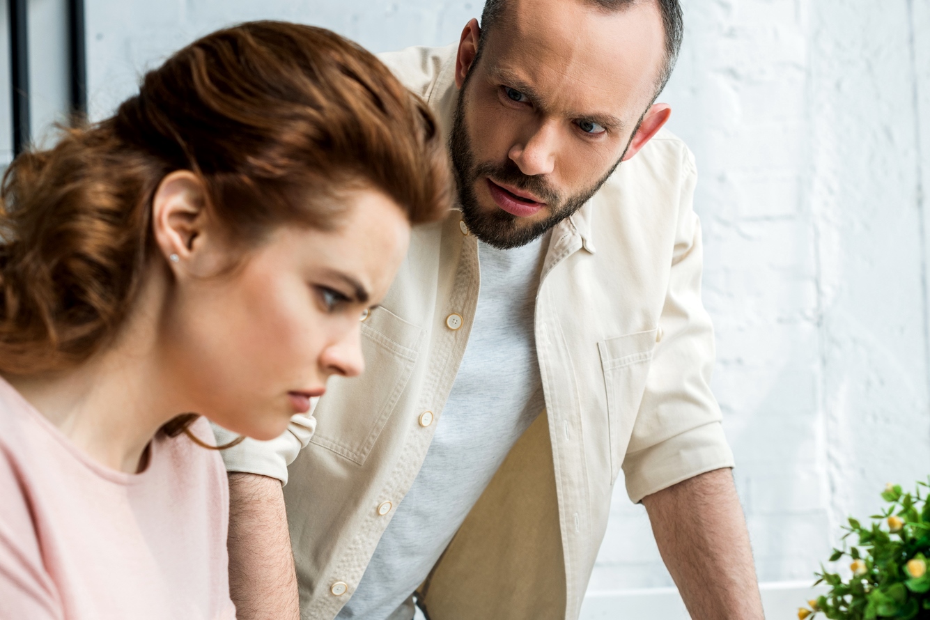
[[[604,369],[604,388],[607,391],[611,484],[617,480],[627,452],[655,348],[655,329],[597,343],[601,367]]]

